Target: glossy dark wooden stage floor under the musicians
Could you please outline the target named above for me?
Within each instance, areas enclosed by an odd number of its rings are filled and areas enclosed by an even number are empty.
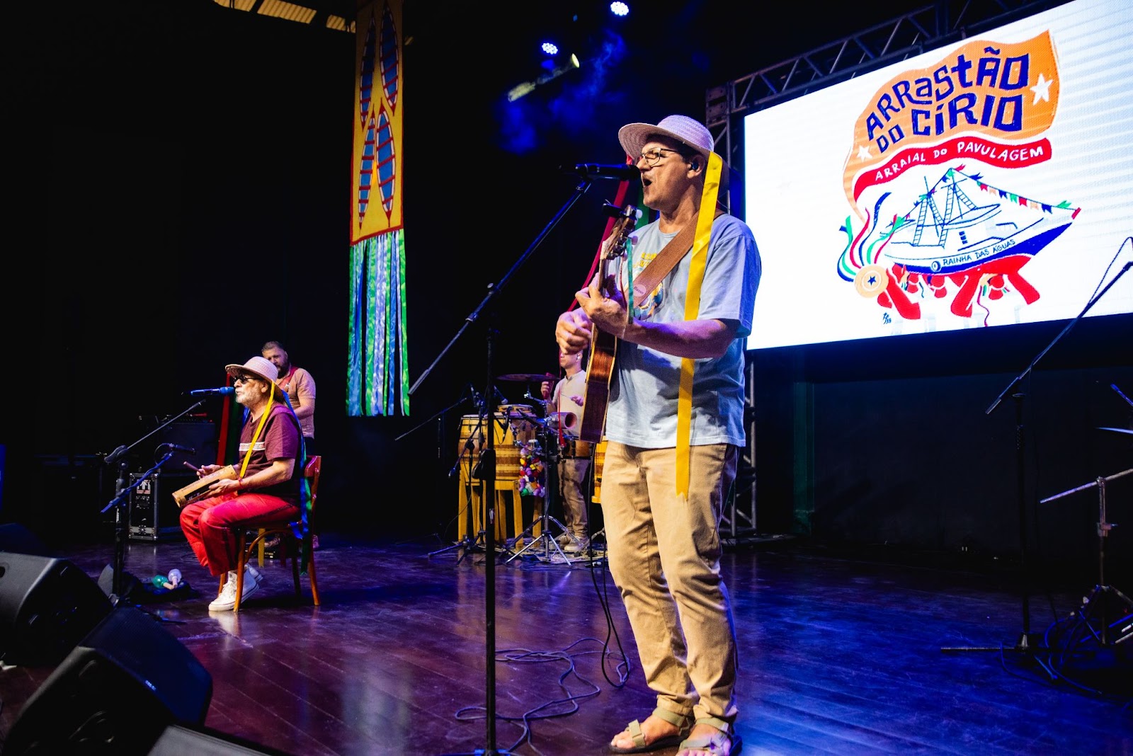
[[[212,676],[204,727],[265,751],[604,754],[627,721],[649,713],[600,559],[501,553],[489,584],[483,551],[433,553],[448,545],[326,533],[316,552],[321,607],[306,578],[297,601],[290,569],[267,560],[263,590],[238,615],[207,612],[215,583],[184,541],[131,541],[125,565],[143,579],[177,567],[198,591],[144,609]],[[59,556],[96,579],[113,543]],[[1093,659],[1016,648],[1024,593],[1041,639],[1092,585],[1031,595],[1010,574],[838,558],[791,542],[730,547],[724,568],[749,756],[1133,753],[1133,641]],[[1055,635],[1050,645],[1065,652],[1070,633]],[[955,647],[982,650],[945,651]],[[3,734],[50,672],[0,671]]]

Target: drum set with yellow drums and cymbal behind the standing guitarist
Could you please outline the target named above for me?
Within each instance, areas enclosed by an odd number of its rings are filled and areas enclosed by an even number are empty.
[[[546,373],[508,373],[499,376],[497,380],[526,384],[554,383],[557,377]],[[538,389],[536,389],[538,390]],[[551,491],[557,490],[557,463],[565,449],[576,443],[581,444],[572,433],[578,426],[578,416],[573,412],[551,412],[552,403],[542,397],[533,396],[530,388],[523,394],[523,400],[530,404],[500,404],[492,413],[488,422],[487,412],[482,407],[477,414],[466,414],[460,422],[459,453],[468,455],[463,464],[469,465],[470,478],[478,478],[480,453],[486,448],[487,428],[493,432],[493,446],[496,459],[496,480],[517,481],[520,496],[534,496],[544,499],[540,515],[523,533],[516,538],[522,541],[523,548],[512,555],[516,559],[523,553],[540,553],[544,557],[557,552],[563,559],[566,555],[556,540],[556,535],[566,531],[565,526],[551,516],[548,509],[553,497]],[[542,412],[536,412],[538,405]],[[542,416],[540,416],[542,415]],[[535,531],[538,535],[535,536]],[[538,550],[538,551],[536,551]]]

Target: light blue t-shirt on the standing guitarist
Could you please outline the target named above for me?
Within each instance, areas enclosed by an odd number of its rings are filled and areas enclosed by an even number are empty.
[[[675,233],[662,233],[657,221],[630,238],[630,260],[634,277],[656,257]],[[760,263],[751,229],[731,215],[713,222],[708,242],[700,310],[697,319],[739,323],[736,337],[723,356],[696,360],[692,375],[692,446],[707,444],[744,445],[743,403],[744,338],[751,333],[751,315],[759,287]],[[639,320],[672,323],[684,320],[684,295],[692,254],[687,254],[651,293]],[[628,284],[625,265],[622,290]],[[681,358],[617,342],[611,378],[606,438],[644,448],[676,446],[676,401],[681,380]]]

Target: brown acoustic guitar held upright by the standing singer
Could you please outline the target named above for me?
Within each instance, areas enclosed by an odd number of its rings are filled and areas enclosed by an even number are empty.
[[[613,231],[603,243],[602,260],[598,263],[598,281],[602,291],[611,295],[617,285],[617,263],[625,255],[625,242],[629,241],[633,222],[637,221],[637,206],[625,205],[622,209],[613,207]],[[632,304],[632,295],[625,298],[627,307]],[[631,318],[631,310],[627,310]],[[583,441],[597,444],[602,440],[606,424],[606,405],[610,402],[610,379],[614,370],[614,354],[617,351],[617,337],[595,327],[590,340],[590,361],[586,368],[586,402],[582,404],[582,419],[579,422],[578,437]]]

